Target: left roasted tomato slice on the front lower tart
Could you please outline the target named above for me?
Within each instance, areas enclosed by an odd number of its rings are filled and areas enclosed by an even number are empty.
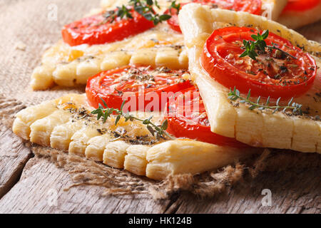
[[[149,68],[125,66],[111,71],[103,71],[88,79],[86,95],[88,103],[98,108],[105,100],[109,108],[121,108],[123,100],[136,99],[134,110],[163,110],[168,97],[191,85],[182,78],[184,70],[169,68]]]

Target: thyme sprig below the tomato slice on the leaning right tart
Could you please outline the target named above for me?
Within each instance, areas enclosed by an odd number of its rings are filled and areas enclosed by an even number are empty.
[[[286,110],[292,110],[292,113],[295,115],[302,115],[302,105],[293,102],[294,98],[291,98],[289,103],[287,105],[279,105],[281,98],[278,98],[275,105],[270,105],[270,96],[267,98],[267,101],[265,104],[260,104],[261,97],[258,97],[258,100],[255,102],[250,100],[251,96],[251,90],[248,90],[248,95],[246,98],[243,98],[240,95],[240,91],[234,87],[234,90],[230,89],[230,93],[228,93],[228,98],[230,100],[239,100],[240,103],[247,103],[250,105],[249,109],[254,110],[265,110],[270,109],[273,110],[273,114],[276,113],[279,110],[282,110],[282,112],[285,112]]]

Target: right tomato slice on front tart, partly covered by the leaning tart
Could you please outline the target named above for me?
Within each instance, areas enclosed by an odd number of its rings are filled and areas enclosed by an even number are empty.
[[[195,86],[180,91],[179,95],[170,99],[165,118],[168,120],[166,131],[177,138],[190,138],[229,147],[249,147],[235,138],[224,137],[210,131],[208,115]]]

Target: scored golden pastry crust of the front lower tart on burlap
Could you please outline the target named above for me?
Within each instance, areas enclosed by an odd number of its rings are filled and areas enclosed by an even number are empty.
[[[13,131],[39,145],[85,156],[155,180],[170,174],[212,170],[256,152],[195,140],[157,140],[136,120],[125,122],[121,118],[115,125],[115,118],[109,118],[103,123],[91,115],[91,110],[86,95],[66,95],[21,110],[14,120]],[[163,120],[161,113],[133,114],[138,118],[153,115],[157,125]]]

